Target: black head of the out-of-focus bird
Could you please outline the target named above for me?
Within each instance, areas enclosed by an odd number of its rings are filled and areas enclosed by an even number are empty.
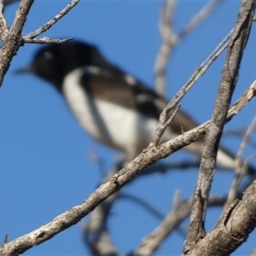
[[[61,90],[61,84],[67,73],[79,67],[102,67],[106,63],[107,61],[94,45],[68,41],[62,44],[48,44],[39,49],[34,55],[32,64],[24,71],[38,75]]]

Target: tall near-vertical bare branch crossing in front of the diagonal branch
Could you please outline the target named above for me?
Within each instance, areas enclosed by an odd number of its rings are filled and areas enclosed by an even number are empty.
[[[230,41],[218,96],[205,139],[205,148],[201,158],[201,168],[195,188],[194,203],[190,217],[189,232],[184,245],[184,253],[188,253],[190,247],[193,247],[196,241],[205,236],[204,224],[207,201],[216,163],[218,143],[224,128],[231,96],[236,87],[243,49],[247,44],[247,38],[253,23],[254,6],[254,1],[242,1]]]

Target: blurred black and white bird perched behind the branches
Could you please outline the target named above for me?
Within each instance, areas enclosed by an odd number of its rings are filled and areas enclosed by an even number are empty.
[[[107,61],[96,46],[79,41],[42,47],[32,64],[21,71],[52,84],[91,137],[124,152],[130,160],[154,137],[160,113],[167,104],[154,90]],[[179,110],[160,143],[196,125]],[[201,156],[203,140],[184,149]],[[234,155],[219,148],[218,163],[234,168]]]

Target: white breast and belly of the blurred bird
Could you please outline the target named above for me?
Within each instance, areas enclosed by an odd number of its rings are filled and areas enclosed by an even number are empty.
[[[96,140],[135,156],[150,143],[157,120],[111,102],[93,100],[79,85],[83,72],[77,69],[64,80],[63,94],[68,106]]]

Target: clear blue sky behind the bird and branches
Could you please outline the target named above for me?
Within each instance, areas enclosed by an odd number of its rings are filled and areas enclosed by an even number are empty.
[[[35,1],[24,34],[42,26],[67,3]],[[179,1],[175,14],[176,31],[206,3]],[[74,37],[96,44],[110,61],[152,86],[154,61],[160,48],[158,26],[162,4],[162,1],[82,1],[44,36]],[[9,24],[17,6],[15,3],[6,9]],[[167,71],[167,98],[177,92],[234,26],[239,6],[240,1],[224,1],[177,47]],[[255,41],[253,28],[233,102],[255,79]],[[113,166],[117,156],[117,152],[96,143],[79,127],[61,96],[49,84],[32,75],[15,75],[15,70],[26,66],[39,47],[27,44],[20,48],[0,90],[0,237],[9,234],[9,240],[38,228],[84,201],[99,185],[102,172],[108,172]],[[210,119],[223,62],[224,55],[182,102],[182,108],[198,122]],[[231,121],[227,130],[247,127],[255,114],[254,105],[254,101],[251,102]],[[240,138],[225,137],[223,143],[236,152],[240,142]],[[252,153],[253,148],[248,148],[246,156]],[[92,159],[92,154],[102,160],[102,167]],[[189,154],[177,153],[166,161],[187,159],[191,159]],[[138,178],[122,192],[143,198],[166,214],[172,207],[177,189],[181,190],[183,199],[193,193],[196,177],[196,169],[184,173],[172,170],[165,175]],[[230,188],[232,177],[228,172],[217,172],[212,193],[223,195]],[[207,230],[211,230],[220,213],[220,209],[209,211]],[[84,221],[86,218],[24,255],[87,254],[81,236]],[[124,199],[113,207],[109,229],[119,251],[128,253],[159,222],[142,207]],[[182,226],[184,230],[186,224]],[[254,234],[250,236],[247,244],[235,254],[250,253],[255,238]],[[156,254],[180,254],[183,239],[183,234],[174,232]]]

